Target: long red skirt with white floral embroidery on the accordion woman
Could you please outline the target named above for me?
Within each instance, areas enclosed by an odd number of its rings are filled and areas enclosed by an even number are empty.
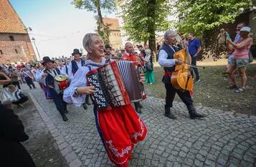
[[[110,161],[116,166],[128,166],[134,144],[143,141],[148,130],[131,104],[108,111],[94,106],[96,126]]]

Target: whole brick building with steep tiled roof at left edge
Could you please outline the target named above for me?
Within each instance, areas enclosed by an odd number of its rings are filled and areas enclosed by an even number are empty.
[[[22,19],[8,0],[0,0],[0,64],[36,60]]]

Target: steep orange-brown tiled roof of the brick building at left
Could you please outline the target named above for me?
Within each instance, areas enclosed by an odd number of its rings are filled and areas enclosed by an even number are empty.
[[[0,0],[0,33],[27,33],[22,20],[8,0]]]

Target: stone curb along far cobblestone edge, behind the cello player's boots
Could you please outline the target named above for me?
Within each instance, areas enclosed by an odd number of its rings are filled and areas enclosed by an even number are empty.
[[[153,97],[153,96],[148,96],[147,98],[154,98],[156,100],[160,100],[160,101],[165,101],[164,98],[156,98],[156,97]],[[174,101],[174,103],[178,103],[177,101]],[[181,102],[180,102],[181,103]],[[181,103],[183,104],[183,103]],[[201,110],[202,108],[204,109],[207,109],[207,108],[211,108],[211,107],[207,107],[207,106],[195,106],[196,109],[199,109]],[[214,109],[212,108],[212,111],[216,111],[217,113],[224,113],[224,114],[227,114],[227,115],[232,115],[232,116],[239,116],[239,117],[242,117],[242,118],[248,118],[248,119],[251,119],[252,121],[256,121],[256,116],[250,116],[248,114],[245,114],[245,113],[232,113],[230,111],[223,111],[221,109]]]

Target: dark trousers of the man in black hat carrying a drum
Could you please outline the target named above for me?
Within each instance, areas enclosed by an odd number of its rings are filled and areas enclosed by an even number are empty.
[[[58,111],[62,114],[62,111],[67,109],[67,103],[63,100],[63,94],[57,94],[53,88],[49,88],[49,93],[51,93],[54,104]]]

